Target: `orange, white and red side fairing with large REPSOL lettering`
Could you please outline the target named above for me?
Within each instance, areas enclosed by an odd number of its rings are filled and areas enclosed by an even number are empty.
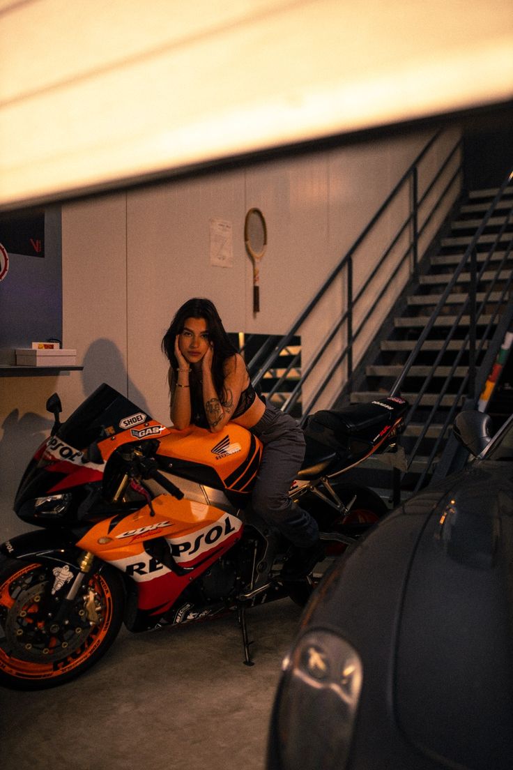
[[[170,607],[189,581],[242,536],[242,521],[211,505],[165,494],[155,497],[152,507],[155,515],[145,505],[135,514],[99,521],[77,545],[138,583],[139,608],[163,611],[163,604]],[[145,542],[158,537],[165,538],[171,558],[145,550]]]

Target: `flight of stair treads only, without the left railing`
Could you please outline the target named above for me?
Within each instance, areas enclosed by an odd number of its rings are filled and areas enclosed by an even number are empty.
[[[475,406],[491,371],[513,316],[512,245],[513,186],[470,192],[438,252],[421,262],[374,360],[355,374],[351,403],[388,393],[411,403],[403,496],[431,479],[456,411]],[[379,474],[379,460],[368,470]]]

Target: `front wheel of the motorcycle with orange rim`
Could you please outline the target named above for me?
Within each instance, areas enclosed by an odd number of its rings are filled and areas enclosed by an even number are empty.
[[[105,569],[89,574],[59,625],[45,605],[55,583],[48,564],[9,559],[0,569],[0,684],[42,690],[78,677],[102,658],[122,624],[121,577]]]

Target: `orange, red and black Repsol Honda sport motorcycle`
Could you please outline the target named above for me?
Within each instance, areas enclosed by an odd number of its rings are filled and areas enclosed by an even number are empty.
[[[22,477],[15,511],[42,527],[0,546],[0,684],[39,689],[98,661],[122,622],[130,631],[238,612],[286,595],[304,603],[320,569],[285,579],[294,547],[251,512],[261,444],[228,423],[220,434],[174,430],[103,384],[52,434]],[[341,475],[394,446],[407,404],[383,398],[320,411],[305,427],[291,487],[340,552],[387,510]],[[331,541],[331,542],[330,542]],[[319,559],[326,562],[325,554]]]

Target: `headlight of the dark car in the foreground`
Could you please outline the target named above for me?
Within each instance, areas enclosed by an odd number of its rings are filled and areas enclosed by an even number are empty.
[[[361,692],[358,653],[331,631],[311,631],[284,661],[275,705],[282,770],[343,770]]]

